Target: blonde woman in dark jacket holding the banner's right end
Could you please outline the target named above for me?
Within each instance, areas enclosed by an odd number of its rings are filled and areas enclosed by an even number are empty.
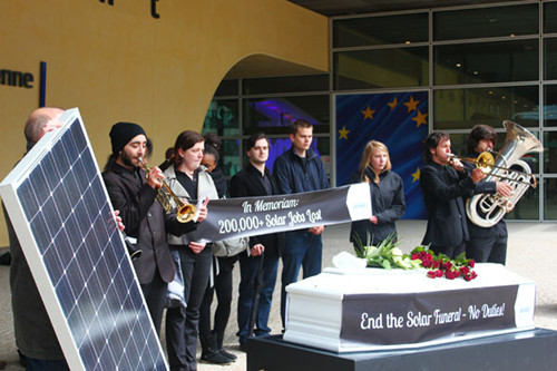
[[[392,172],[391,159],[387,146],[370,140],[362,153],[358,172],[350,183],[368,183],[370,185],[373,215],[367,221],[352,223],[350,242],[356,251],[362,246],[378,246],[387,237],[397,240],[394,222],[404,215],[404,187],[401,177]]]

